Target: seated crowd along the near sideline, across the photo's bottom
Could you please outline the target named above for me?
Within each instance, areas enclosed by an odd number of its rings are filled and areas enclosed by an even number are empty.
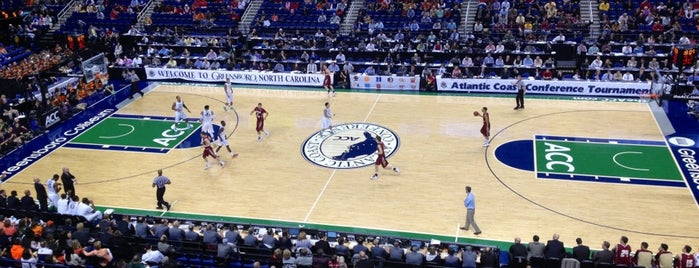
[[[71,267],[506,267],[544,268],[690,268],[699,260],[691,246],[673,254],[667,244],[654,252],[646,242],[635,251],[621,236],[612,246],[602,241],[591,250],[576,239],[566,250],[558,234],[546,243],[515,238],[508,249],[430,243],[371,235],[338,234],[309,229],[244,226],[236,223],[102,214],[87,198],[71,191],[57,195],[59,178],[34,180],[36,199],[25,190],[19,197],[0,190],[0,263],[62,264]],[[4,176],[4,175],[3,175]],[[55,194],[54,194],[55,193]],[[43,198],[43,200],[42,200]],[[52,200],[55,198],[56,201]],[[49,203],[49,200],[51,203]],[[54,204],[49,206],[48,204]],[[505,252],[500,252],[505,251]],[[505,258],[505,259],[501,259]],[[571,264],[571,262],[573,264]],[[238,266],[236,266],[238,267]],[[566,266],[567,267],[567,266]]]

